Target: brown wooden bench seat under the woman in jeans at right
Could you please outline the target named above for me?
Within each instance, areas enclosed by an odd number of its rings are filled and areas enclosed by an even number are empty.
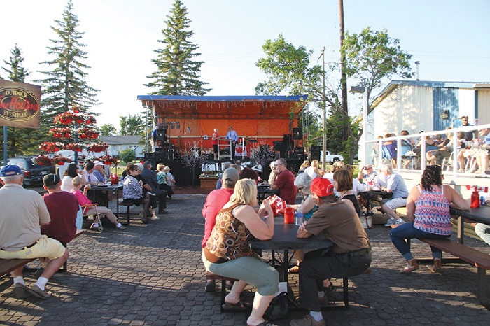
[[[453,262],[467,262],[477,267],[477,297],[484,306],[489,302],[486,299],[486,270],[490,269],[490,255],[482,253],[474,248],[467,247],[461,243],[451,241],[450,239],[419,239],[420,241],[427,243],[430,246],[439,248],[440,250],[458,257],[459,260]],[[419,261],[417,259],[417,261]],[[432,260],[428,260],[432,263]],[[447,263],[450,260],[442,260]]]

